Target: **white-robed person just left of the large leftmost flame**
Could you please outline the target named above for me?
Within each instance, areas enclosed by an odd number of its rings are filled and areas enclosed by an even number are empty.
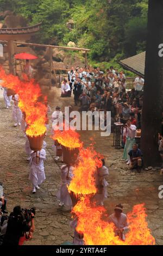
[[[21,125],[21,119],[22,119],[22,112],[20,108],[18,107],[18,94],[15,94],[12,96],[12,100],[14,100],[14,105],[12,108],[12,118],[15,121],[14,126]]]

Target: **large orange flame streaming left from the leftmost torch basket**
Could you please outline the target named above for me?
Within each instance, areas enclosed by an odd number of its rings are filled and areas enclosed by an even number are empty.
[[[46,97],[42,96],[39,84],[32,79],[21,81],[17,76],[5,74],[0,67],[0,77],[3,80],[2,86],[13,89],[19,96],[18,106],[26,113],[28,136],[40,136],[46,132],[45,123],[47,120]],[[42,101],[39,101],[42,97]]]

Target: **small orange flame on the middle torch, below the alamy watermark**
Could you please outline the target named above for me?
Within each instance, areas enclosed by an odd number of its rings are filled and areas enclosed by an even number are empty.
[[[79,137],[79,133],[74,130],[56,130],[52,138],[58,141],[59,144],[74,149],[83,147],[83,142],[80,141]]]

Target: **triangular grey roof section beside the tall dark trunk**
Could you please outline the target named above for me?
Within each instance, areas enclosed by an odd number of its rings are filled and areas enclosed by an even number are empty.
[[[137,75],[145,76],[146,52],[141,52],[133,57],[120,60],[120,64],[127,70]]]

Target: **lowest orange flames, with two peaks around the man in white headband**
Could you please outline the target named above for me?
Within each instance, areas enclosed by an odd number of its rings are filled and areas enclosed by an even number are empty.
[[[77,231],[84,234],[85,245],[154,245],[146,222],[143,204],[135,205],[127,215],[129,231],[122,241],[114,233],[114,224],[106,221],[108,214],[103,206],[96,206],[87,197],[79,201],[72,210],[78,219]]]

